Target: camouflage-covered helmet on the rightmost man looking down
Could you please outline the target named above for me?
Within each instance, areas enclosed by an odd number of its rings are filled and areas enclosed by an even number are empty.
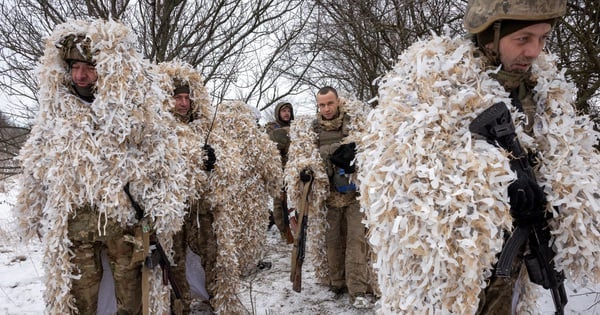
[[[542,21],[561,17],[566,0],[470,0],[463,20],[477,34],[499,20]]]

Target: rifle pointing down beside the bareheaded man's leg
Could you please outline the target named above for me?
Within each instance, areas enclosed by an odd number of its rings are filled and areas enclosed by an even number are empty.
[[[290,281],[292,281],[292,289],[296,292],[302,291],[302,264],[304,263],[304,257],[306,253],[306,230],[308,224],[308,193],[313,182],[312,173],[310,173],[310,180],[304,183],[302,189],[302,197],[299,205],[299,222],[297,224],[297,231],[294,237],[294,248],[292,250],[292,273],[290,275]]]

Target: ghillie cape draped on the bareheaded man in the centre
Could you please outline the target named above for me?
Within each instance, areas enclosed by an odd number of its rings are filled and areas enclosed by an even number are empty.
[[[347,113],[350,116],[349,134],[344,138],[344,143],[356,142],[360,146],[360,136],[364,132],[364,104],[356,99],[340,97],[340,115]],[[300,172],[303,169],[312,169],[313,183],[308,194],[308,225],[307,225],[307,253],[310,255],[315,267],[315,276],[322,285],[329,285],[329,271],[327,266],[327,247],[325,231],[328,228],[326,221],[327,208],[325,201],[329,196],[329,178],[325,171],[325,164],[321,158],[318,147],[318,134],[313,130],[315,115],[299,115],[290,125],[290,148],[288,162],[285,166],[284,182],[287,186],[288,207],[298,208],[302,195],[303,183],[300,181]]]

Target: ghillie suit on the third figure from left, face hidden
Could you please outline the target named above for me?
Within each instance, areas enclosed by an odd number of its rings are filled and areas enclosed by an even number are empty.
[[[212,304],[219,314],[243,314],[247,310],[237,296],[240,280],[264,253],[270,200],[283,185],[281,157],[242,102],[219,105],[213,132],[226,135],[227,142],[219,146],[208,192],[219,244]]]

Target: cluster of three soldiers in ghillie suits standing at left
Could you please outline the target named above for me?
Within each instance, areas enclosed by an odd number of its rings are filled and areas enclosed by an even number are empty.
[[[135,47],[110,20],[69,20],[46,42],[17,206],[24,238],[44,243],[46,311],[243,313],[279,152],[252,108],[217,110],[198,69]]]

